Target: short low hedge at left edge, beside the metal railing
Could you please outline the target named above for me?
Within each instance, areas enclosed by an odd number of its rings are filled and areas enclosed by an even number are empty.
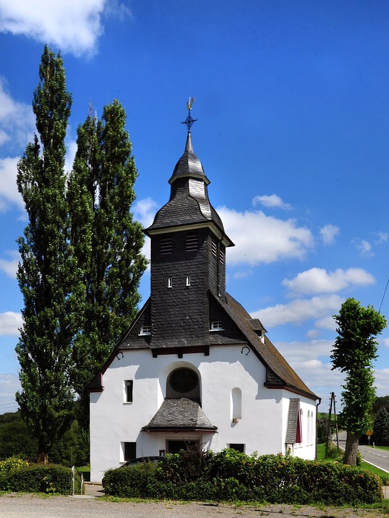
[[[56,465],[31,465],[0,471],[0,490],[71,495],[73,492],[72,470]],[[81,479],[78,473],[75,478],[75,491],[78,494],[81,491]]]

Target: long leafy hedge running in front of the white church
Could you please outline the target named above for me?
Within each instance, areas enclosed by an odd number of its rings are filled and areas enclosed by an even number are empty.
[[[104,487],[106,495],[180,500],[343,505],[382,499],[380,478],[357,467],[228,449],[182,451],[166,455],[158,467],[148,463],[108,470]]]

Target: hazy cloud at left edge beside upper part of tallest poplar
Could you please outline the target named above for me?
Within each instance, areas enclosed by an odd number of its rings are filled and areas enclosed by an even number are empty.
[[[8,143],[24,147],[32,139],[34,128],[32,107],[12,99],[5,80],[0,77],[0,145]]]

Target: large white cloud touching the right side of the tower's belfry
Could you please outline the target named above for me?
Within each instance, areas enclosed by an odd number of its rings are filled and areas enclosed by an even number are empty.
[[[219,207],[226,233],[235,243],[228,249],[228,264],[272,263],[287,257],[301,259],[312,247],[310,230],[296,220],[279,220],[261,211],[238,212]]]

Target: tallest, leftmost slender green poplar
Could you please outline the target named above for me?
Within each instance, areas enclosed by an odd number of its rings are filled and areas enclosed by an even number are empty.
[[[38,461],[47,463],[51,445],[71,419],[69,372],[85,285],[69,244],[65,198],[64,138],[72,98],[61,55],[47,47],[39,79],[33,98],[37,134],[18,164],[18,189],[29,223],[18,239],[24,308],[16,347],[22,391],[16,398],[38,439]]]

